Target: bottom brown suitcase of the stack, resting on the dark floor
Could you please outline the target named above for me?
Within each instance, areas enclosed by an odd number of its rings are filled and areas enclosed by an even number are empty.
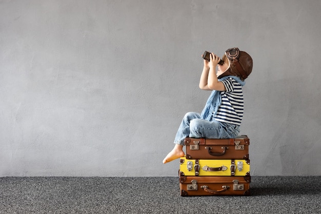
[[[251,176],[180,176],[180,196],[249,196]]]

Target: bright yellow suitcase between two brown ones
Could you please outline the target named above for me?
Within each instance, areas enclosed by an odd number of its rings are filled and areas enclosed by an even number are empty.
[[[180,158],[180,176],[250,176],[250,160],[188,160]]]

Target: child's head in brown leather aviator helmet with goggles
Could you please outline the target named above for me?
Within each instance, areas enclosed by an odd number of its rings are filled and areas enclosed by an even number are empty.
[[[222,60],[224,64],[227,65],[227,69],[217,77],[218,79],[232,75],[245,80],[252,72],[252,57],[245,51],[239,51],[238,48],[228,49],[222,57]]]

